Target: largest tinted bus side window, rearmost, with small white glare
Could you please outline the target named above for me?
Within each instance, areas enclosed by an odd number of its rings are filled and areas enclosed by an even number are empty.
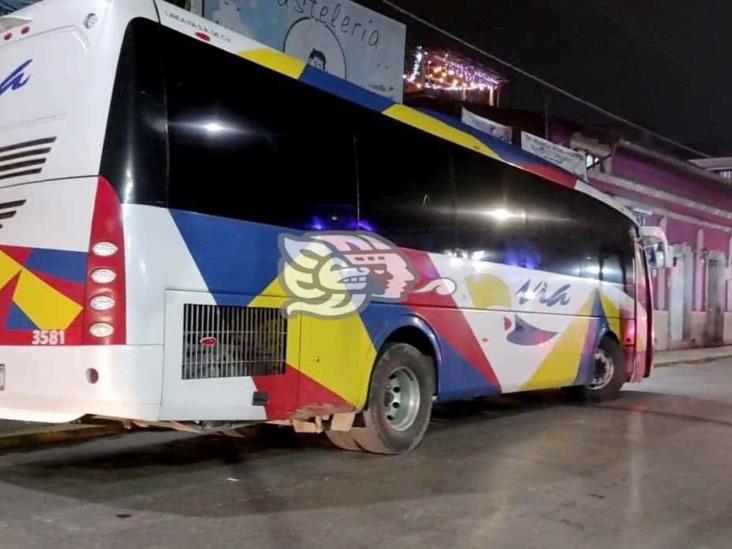
[[[170,206],[355,229],[356,107],[167,32]]]

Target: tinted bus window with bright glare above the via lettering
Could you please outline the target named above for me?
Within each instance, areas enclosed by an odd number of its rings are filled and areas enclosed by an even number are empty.
[[[620,212],[466,149],[452,157],[458,253],[632,287],[631,222]]]

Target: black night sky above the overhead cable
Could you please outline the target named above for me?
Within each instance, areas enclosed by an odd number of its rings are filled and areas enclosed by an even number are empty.
[[[732,156],[728,0],[394,3],[616,114]]]

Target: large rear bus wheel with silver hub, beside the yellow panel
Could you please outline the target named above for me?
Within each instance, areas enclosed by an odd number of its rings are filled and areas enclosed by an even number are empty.
[[[350,434],[367,452],[408,452],[427,431],[434,393],[432,359],[406,343],[389,343],[374,366],[363,427]]]

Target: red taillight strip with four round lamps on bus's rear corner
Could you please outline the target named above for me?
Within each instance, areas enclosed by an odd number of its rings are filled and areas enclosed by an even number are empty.
[[[125,242],[122,207],[112,186],[99,178],[94,203],[84,303],[84,342],[126,341]]]

